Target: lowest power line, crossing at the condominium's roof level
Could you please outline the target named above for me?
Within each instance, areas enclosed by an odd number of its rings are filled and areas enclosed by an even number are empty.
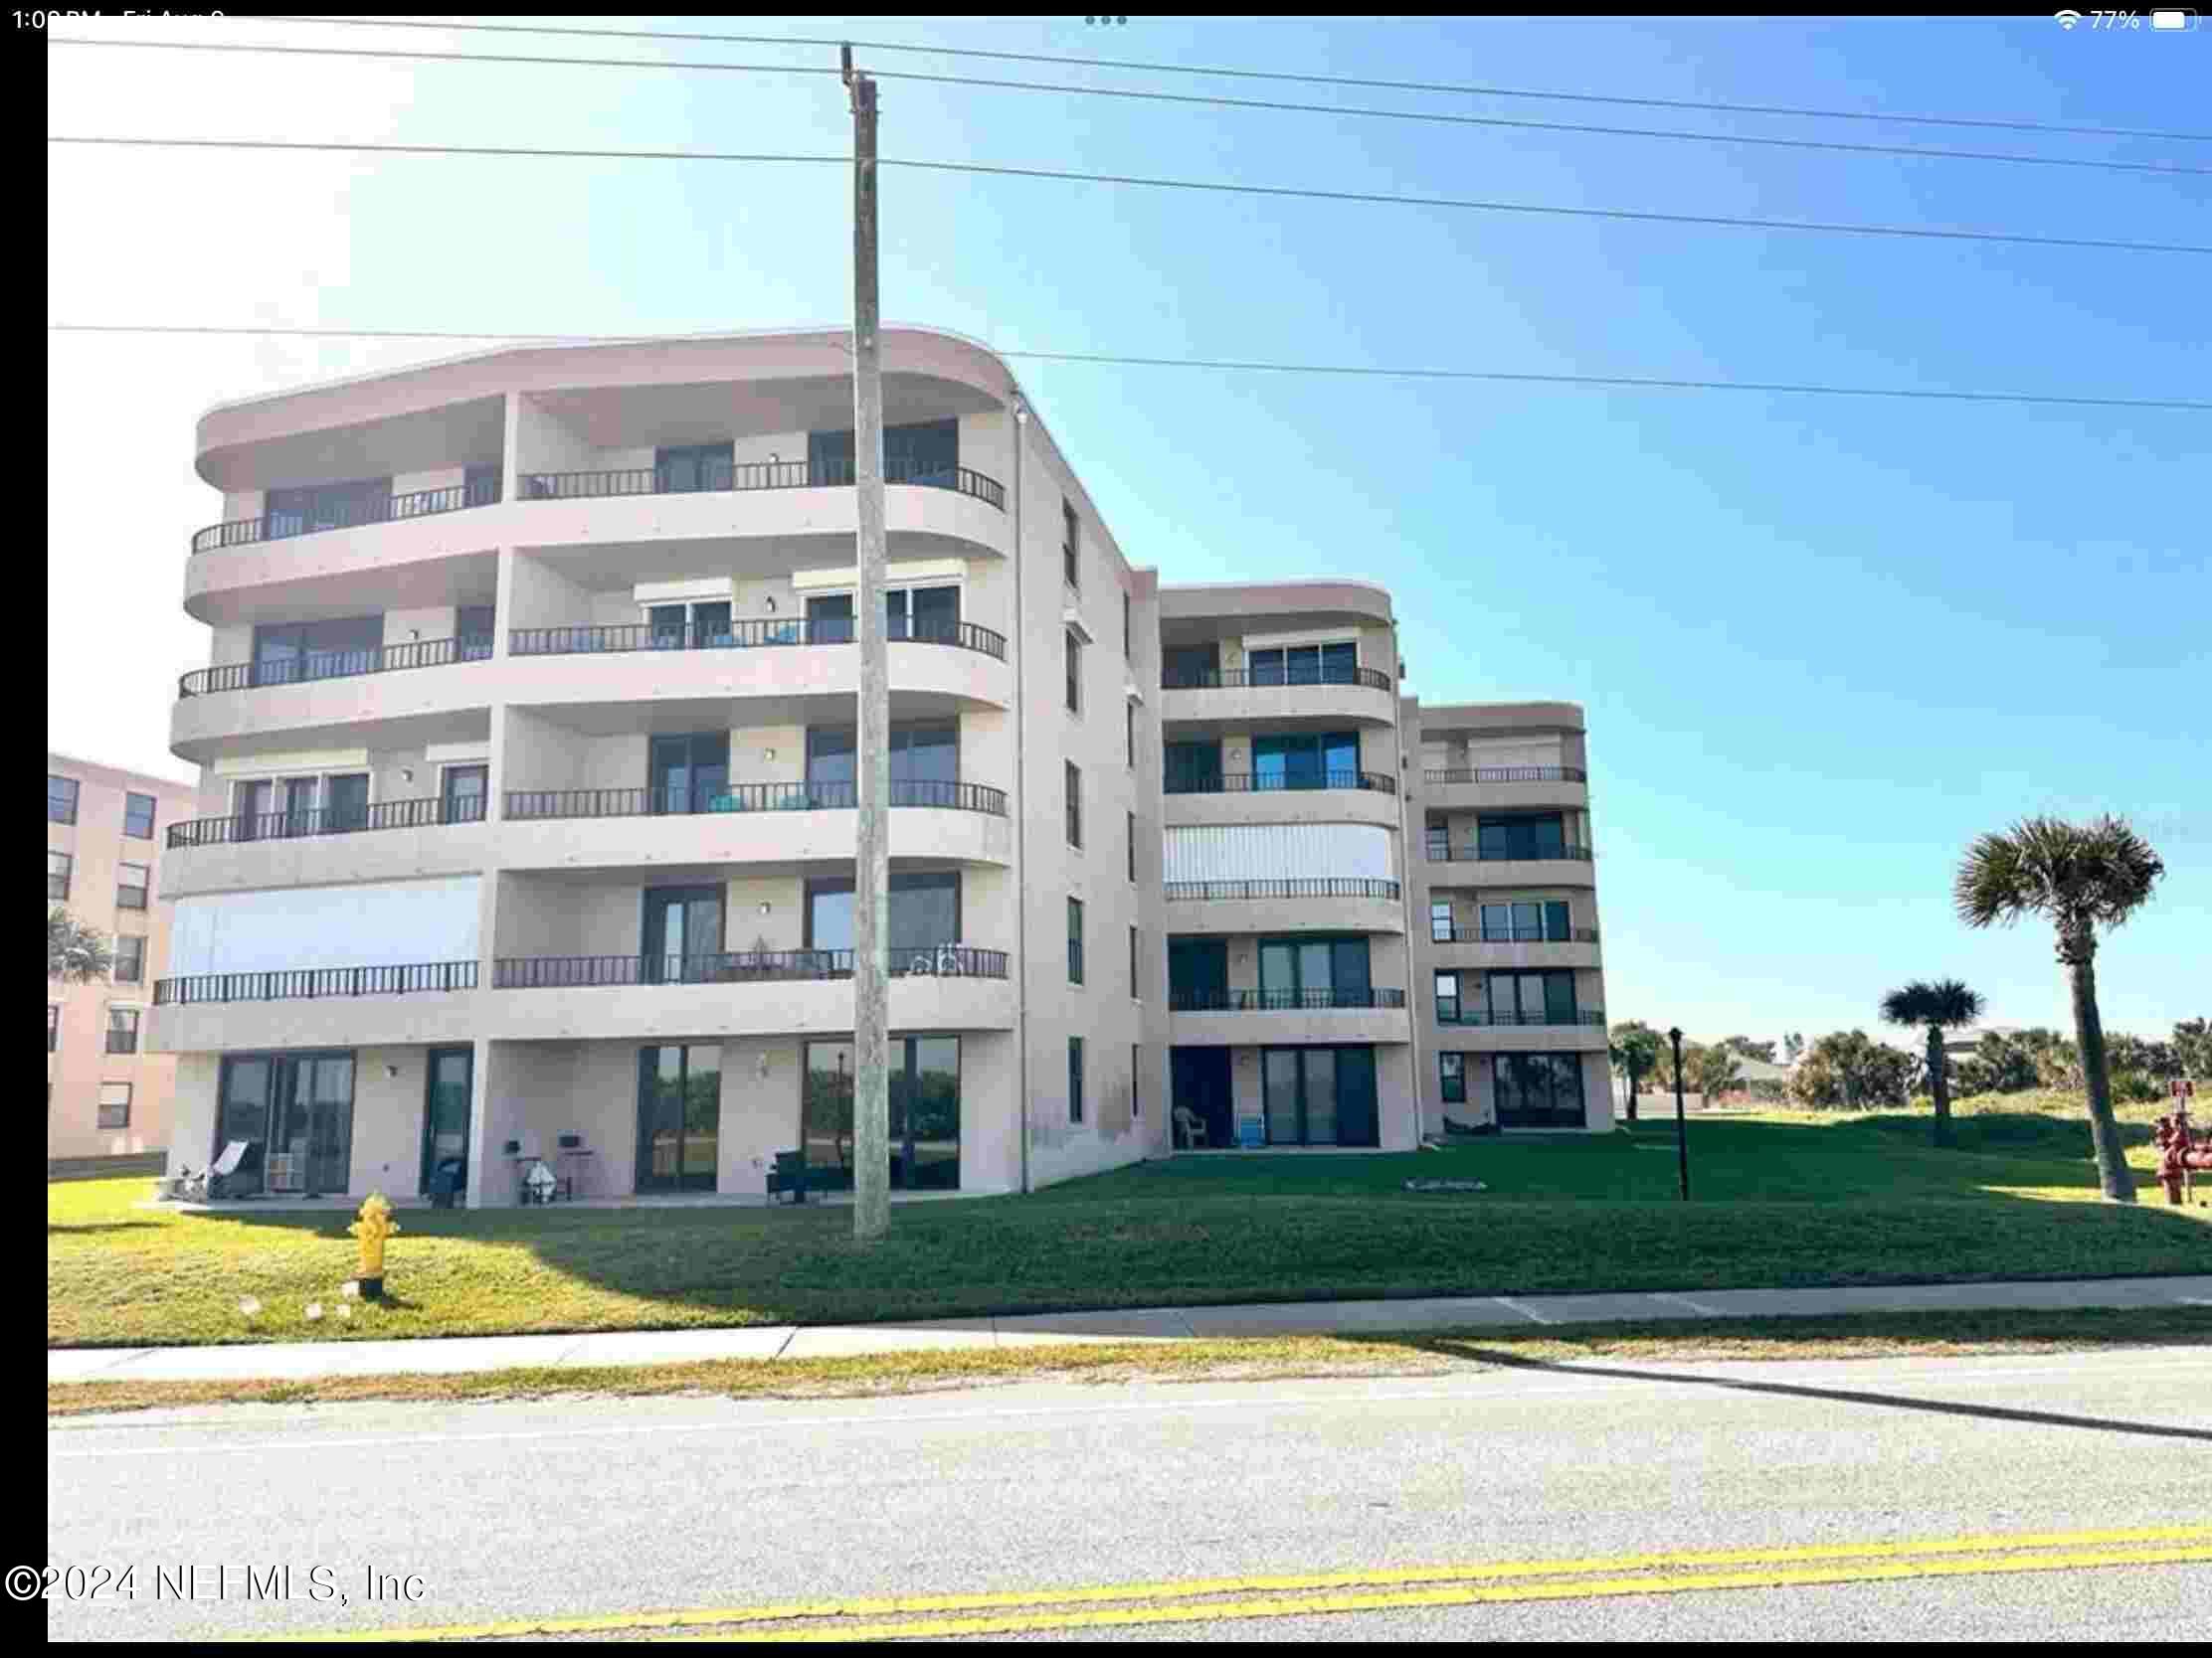
[[[186,323],[46,323],[49,334],[241,334],[272,338],[343,338],[343,340],[478,340],[489,345],[635,345],[666,334],[460,334],[431,329],[352,329],[352,327],[204,327]],[[1663,380],[1626,374],[1513,374],[1504,369],[1385,369],[1340,363],[1252,363],[1232,358],[1179,356],[1108,356],[1104,351],[1006,351],[987,347],[993,356],[1029,363],[1097,363],[1146,369],[1219,369],[1232,374],[1334,374],[1378,380],[1486,380],[1495,385],[1571,385],[1621,391],[1783,391],[1823,398],[1918,398],[1936,402],[2022,402],[2077,409],[2183,409],[2212,413],[2212,402],[2185,398],[2073,398],[2028,391],[1933,391],[1918,387],[1838,387],[1787,380]]]

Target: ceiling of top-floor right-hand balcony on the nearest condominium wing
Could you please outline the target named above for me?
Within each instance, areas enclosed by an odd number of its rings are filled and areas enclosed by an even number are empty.
[[[619,385],[535,391],[531,400],[595,449],[721,442],[763,431],[845,431],[852,380],[706,380],[697,385]],[[883,376],[885,424],[984,413],[995,400],[958,380],[927,374]],[[805,460],[805,451],[779,455]]]

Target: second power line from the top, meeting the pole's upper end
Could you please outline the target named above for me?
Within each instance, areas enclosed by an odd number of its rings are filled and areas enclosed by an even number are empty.
[[[232,53],[279,53],[303,57],[380,57],[414,62],[460,62],[460,64],[564,64],[582,69],[677,69],[677,71],[734,71],[752,75],[836,75],[836,69],[812,69],[801,64],[699,64],[661,62],[653,57],[529,57],[520,53],[453,53],[453,51],[392,51],[361,46],[239,46],[199,40],[69,40],[49,35],[49,46],[146,46],[155,51],[232,51]],[[883,69],[876,80],[929,82],[938,86],[993,86],[1013,93],[1060,93],[1064,97],[1126,97],[1150,104],[1208,104],[1217,108],[1287,111],[1298,115],[1356,115],[1385,122],[1431,122],[1444,126],[1520,128],[1531,133],[1586,133],[1599,137],[1646,137],[1681,139],[1690,144],[1754,144],[1783,150],[1836,150],[1847,155],[1905,155],[1931,161],[2017,161],[2024,166],[2055,168],[2099,168],[2108,172],[2163,172],[2163,175],[2212,175],[2212,166],[2190,166],[2185,161],[2110,161],[2079,155],[2020,155],[2015,150],[1931,150],[1916,144],[1843,144],[1838,139],[1790,139],[1752,137],[1745,133],[1679,133],[1652,126],[1590,126],[1577,122],[1522,122],[1506,115],[1447,115],[1440,111],[1402,108],[1354,108],[1343,104],[1290,104],[1263,97],[1212,97],[1203,93],[1157,93],[1126,86],[1062,86],[1053,82],[984,80],[980,75],[927,75],[922,71]]]

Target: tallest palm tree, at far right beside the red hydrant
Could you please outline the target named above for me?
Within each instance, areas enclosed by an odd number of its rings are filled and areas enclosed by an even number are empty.
[[[2112,931],[2150,900],[2166,864],[2126,818],[2090,825],[2026,818],[2008,833],[1978,836],[1960,860],[1951,895],[1966,926],[2044,915],[2059,935],[2059,962],[2073,988],[2075,1048],[2088,1090],[2088,1132],[2097,1183],[2112,1203],[2135,1203],[2135,1178],[2112,1121],[2112,1074],[2097,1017],[2097,928]]]

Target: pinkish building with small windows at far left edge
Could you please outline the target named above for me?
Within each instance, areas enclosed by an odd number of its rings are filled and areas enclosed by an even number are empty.
[[[104,933],[104,982],[46,984],[46,1156],[168,1150],[177,1061],[148,1050],[146,1010],[168,962],[159,836],[192,814],[175,778],[46,754],[46,909]]]

